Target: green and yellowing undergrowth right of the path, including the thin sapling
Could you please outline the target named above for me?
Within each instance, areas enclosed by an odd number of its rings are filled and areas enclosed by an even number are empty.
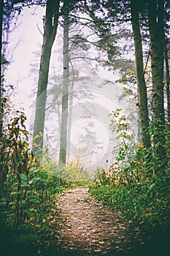
[[[119,118],[119,113],[118,110],[115,117]],[[121,126],[119,118],[117,136],[123,134],[128,125],[124,117],[123,120],[125,124]],[[149,132],[154,140],[154,135],[158,131],[151,125]],[[153,143],[154,146],[148,149],[139,143],[135,147],[134,158],[128,165],[123,165],[127,157],[122,154],[121,149],[117,154],[117,162],[109,167],[109,170],[102,170],[101,174],[96,175],[95,185],[90,187],[91,195],[123,211],[134,225],[147,229],[170,225],[169,123],[164,127],[163,137],[165,140],[159,142],[159,146],[165,150],[163,159],[160,159]],[[126,145],[131,145],[126,137],[125,139]],[[119,146],[121,147],[120,144]]]

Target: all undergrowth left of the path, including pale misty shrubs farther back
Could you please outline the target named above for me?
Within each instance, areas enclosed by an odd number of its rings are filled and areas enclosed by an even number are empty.
[[[0,140],[0,238],[22,242],[24,237],[27,243],[29,233],[37,239],[50,230],[55,196],[87,183],[87,177],[76,167],[60,168],[45,157],[39,164],[28,146],[25,121],[17,111]]]

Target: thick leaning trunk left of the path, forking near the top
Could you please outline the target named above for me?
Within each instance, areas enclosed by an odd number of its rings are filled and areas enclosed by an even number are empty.
[[[42,157],[43,148],[45,105],[47,101],[47,82],[50,67],[50,56],[58,28],[59,6],[60,0],[47,0],[33,133],[33,138],[35,138],[34,154],[36,154],[36,157],[40,158]]]

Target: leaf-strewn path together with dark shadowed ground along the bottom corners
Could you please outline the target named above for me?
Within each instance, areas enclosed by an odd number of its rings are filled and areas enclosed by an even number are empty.
[[[7,241],[0,239],[0,255],[169,256],[169,229],[146,233],[134,227],[120,211],[91,197],[88,187],[58,195],[51,211],[49,231],[39,230],[38,244],[36,239],[33,244],[23,240],[13,244],[8,236]]]

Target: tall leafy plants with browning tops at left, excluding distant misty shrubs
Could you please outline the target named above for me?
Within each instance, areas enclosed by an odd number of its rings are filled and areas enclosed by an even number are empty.
[[[28,146],[25,121],[24,113],[17,111],[0,141],[1,232],[7,228],[20,232],[28,227],[42,228],[49,219],[53,197],[63,191],[59,179],[36,162]]]

